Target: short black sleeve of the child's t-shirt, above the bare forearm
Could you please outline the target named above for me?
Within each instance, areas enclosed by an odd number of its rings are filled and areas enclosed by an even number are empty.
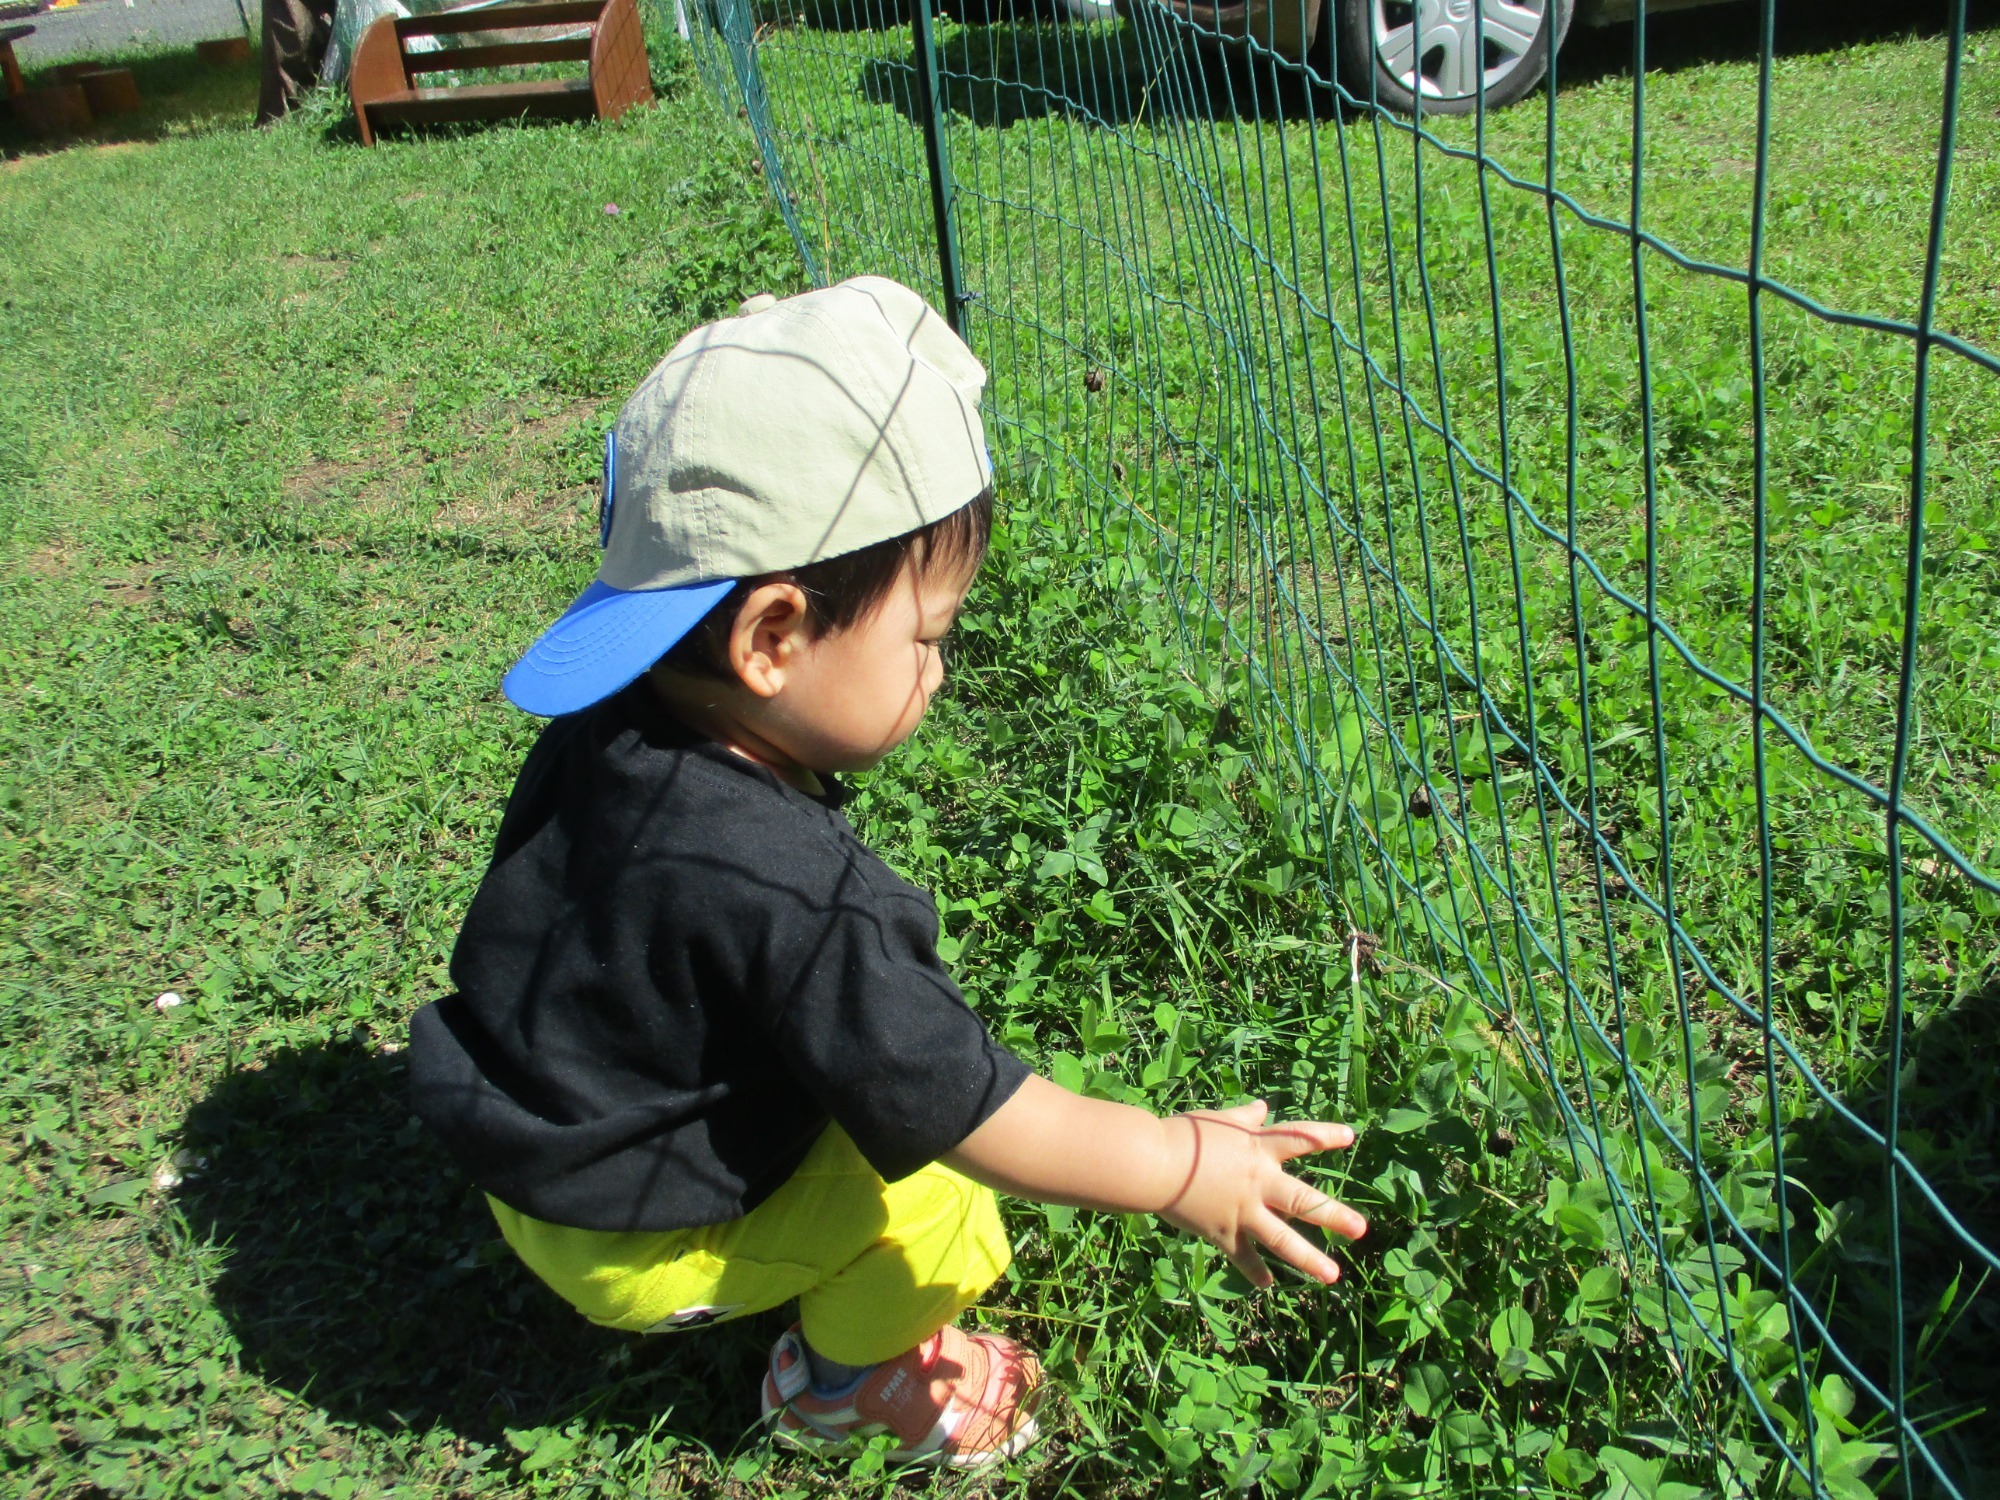
[[[800,918],[772,932],[778,1052],[884,1180],[910,1176],[1006,1104],[1028,1068],[944,972],[930,898],[886,866],[848,864],[830,906]]]

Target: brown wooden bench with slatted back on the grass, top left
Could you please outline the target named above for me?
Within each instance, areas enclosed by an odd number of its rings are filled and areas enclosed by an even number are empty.
[[[588,36],[488,40],[410,52],[412,36],[520,32],[544,26],[588,26]],[[524,62],[590,62],[584,78],[536,78],[514,84],[418,88],[432,72],[514,68]],[[362,144],[372,146],[384,124],[444,124],[450,120],[616,120],[634,104],[652,102],[652,72],[640,36],[636,0],[552,0],[548,4],[446,10],[436,16],[382,16],[362,32],[348,74],[348,98]]]

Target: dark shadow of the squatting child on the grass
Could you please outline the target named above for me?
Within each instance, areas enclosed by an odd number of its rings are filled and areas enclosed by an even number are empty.
[[[244,1366],[384,1432],[568,1422],[664,1428],[712,1452],[756,1422],[772,1328],[642,1340],[586,1324],[498,1238],[410,1116],[402,1060],[360,1042],[284,1050],[224,1078],[186,1122],[176,1194]]]

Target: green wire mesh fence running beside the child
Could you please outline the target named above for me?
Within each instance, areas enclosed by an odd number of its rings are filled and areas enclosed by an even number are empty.
[[[808,274],[952,312],[1002,466],[1172,600],[1280,768],[1356,968],[1506,1038],[1494,1088],[1568,1152],[1564,1316],[1624,1308],[1724,1492],[1992,1492],[2000,360],[1948,292],[2000,98],[1964,4],[1872,54],[1914,72],[1858,160],[1774,0],[1664,122],[1644,16],[1628,76],[1558,54],[1412,120],[1316,6],[1274,46],[1154,0],[800,4],[682,26]]]

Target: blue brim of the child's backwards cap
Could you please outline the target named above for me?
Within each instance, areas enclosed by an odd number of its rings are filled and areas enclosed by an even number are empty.
[[[624,590],[594,582],[500,682],[508,702],[556,718],[610,698],[730,592],[734,578]]]

